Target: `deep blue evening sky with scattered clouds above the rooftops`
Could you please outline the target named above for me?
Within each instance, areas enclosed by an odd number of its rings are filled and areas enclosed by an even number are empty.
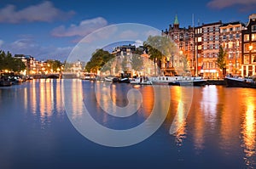
[[[165,30],[175,14],[182,27],[192,25],[192,14],[195,25],[247,22],[255,8],[256,0],[1,0],[0,49],[65,60],[77,42],[104,26],[137,23]]]

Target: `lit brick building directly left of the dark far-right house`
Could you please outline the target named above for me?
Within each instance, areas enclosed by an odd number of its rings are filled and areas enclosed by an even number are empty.
[[[226,55],[226,73],[241,75],[241,31],[245,25],[239,21],[220,26],[220,44]]]

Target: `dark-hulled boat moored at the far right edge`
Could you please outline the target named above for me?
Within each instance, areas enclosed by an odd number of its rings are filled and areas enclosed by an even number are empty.
[[[226,76],[224,78],[226,87],[247,87],[256,88],[256,81],[253,77],[233,77]]]

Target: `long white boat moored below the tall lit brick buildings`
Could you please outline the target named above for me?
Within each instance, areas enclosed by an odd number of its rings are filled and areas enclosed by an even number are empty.
[[[171,86],[197,86],[202,87],[207,84],[207,80],[201,77],[183,76],[173,82],[168,83]]]

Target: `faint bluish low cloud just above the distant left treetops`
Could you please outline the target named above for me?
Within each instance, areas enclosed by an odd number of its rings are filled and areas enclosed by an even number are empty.
[[[41,46],[32,39],[19,39],[9,44],[3,44],[3,50],[11,54],[28,54],[37,60],[58,59],[64,61],[73,47],[56,48],[54,46]]]

